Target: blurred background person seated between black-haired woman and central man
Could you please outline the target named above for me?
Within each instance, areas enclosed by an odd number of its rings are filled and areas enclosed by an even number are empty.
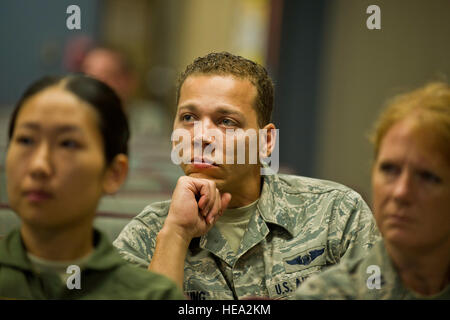
[[[129,55],[119,48],[96,46],[86,53],[81,71],[117,92],[130,124],[130,174],[116,200],[128,200],[128,194],[133,199],[148,198],[149,193],[169,195],[182,173],[170,159],[170,115],[156,101],[135,96],[138,75]]]

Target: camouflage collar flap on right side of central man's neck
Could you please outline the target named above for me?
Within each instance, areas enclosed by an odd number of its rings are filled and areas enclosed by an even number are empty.
[[[276,224],[294,236],[294,216],[287,209],[285,190],[277,174],[263,176],[257,208],[264,221]]]

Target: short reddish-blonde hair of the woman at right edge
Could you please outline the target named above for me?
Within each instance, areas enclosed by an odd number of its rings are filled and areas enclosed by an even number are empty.
[[[445,82],[431,82],[388,101],[370,136],[375,159],[389,129],[409,117],[414,118],[417,128],[433,132],[450,158],[450,87]]]

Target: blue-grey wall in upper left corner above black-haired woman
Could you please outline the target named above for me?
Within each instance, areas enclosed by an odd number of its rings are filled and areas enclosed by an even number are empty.
[[[81,9],[81,30],[68,30],[66,9]],[[61,73],[66,41],[98,36],[99,0],[2,0],[0,2],[0,107],[14,103],[25,87],[48,73]]]

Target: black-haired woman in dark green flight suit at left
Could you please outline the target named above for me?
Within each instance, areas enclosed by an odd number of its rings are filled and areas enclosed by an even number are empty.
[[[120,99],[84,75],[46,77],[9,126],[8,199],[20,230],[0,240],[0,298],[184,299],[169,279],[128,265],[93,228],[103,194],[128,171]]]

